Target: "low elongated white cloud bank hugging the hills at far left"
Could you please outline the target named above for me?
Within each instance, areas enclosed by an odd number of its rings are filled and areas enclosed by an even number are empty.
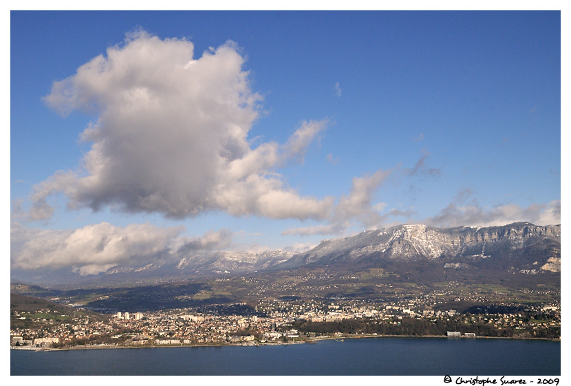
[[[183,258],[201,250],[219,250],[231,244],[226,229],[201,237],[184,237],[184,227],[158,228],[151,224],[125,227],[107,222],[75,230],[44,230],[11,226],[13,268],[73,267],[80,275],[96,275],[118,264],[146,264],[157,259]]]

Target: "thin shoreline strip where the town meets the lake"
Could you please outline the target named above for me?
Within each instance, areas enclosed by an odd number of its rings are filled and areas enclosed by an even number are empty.
[[[446,335],[347,335],[347,336],[325,336],[310,338],[304,341],[291,341],[291,342],[255,342],[255,343],[215,343],[215,344],[200,344],[200,345],[77,345],[73,347],[13,347],[10,350],[23,350],[23,351],[70,351],[70,350],[114,350],[114,349],[138,349],[138,348],[177,348],[177,347],[224,347],[224,346],[244,346],[244,347],[259,347],[259,346],[272,346],[272,345],[298,345],[303,343],[316,343],[316,341],[338,341],[341,343],[343,339],[369,339],[369,338],[428,338],[428,339],[513,339],[515,341],[557,341],[561,339],[546,339],[546,338],[526,338],[518,339],[510,336],[446,336]]]

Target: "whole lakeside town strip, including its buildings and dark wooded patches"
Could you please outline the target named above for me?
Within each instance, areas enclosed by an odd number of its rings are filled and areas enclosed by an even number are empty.
[[[457,301],[461,304],[462,299]],[[10,345],[21,350],[261,345],[402,335],[560,339],[558,301],[517,310],[508,303],[470,310],[442,309],[430,299],[384,303],[263,299],[255,306],[234,303],[208,310],[124,310],[101,320],[56,310],[13,310],[12,319],[36,319],[39,324],[11,328]]]

